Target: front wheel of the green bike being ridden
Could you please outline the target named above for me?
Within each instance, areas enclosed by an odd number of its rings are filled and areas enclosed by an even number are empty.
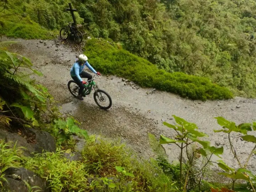
[[[94,92],[94,101],[100,108],[104,110],[107,110],[112,106],[112,99],[110,95],[101,89]]]

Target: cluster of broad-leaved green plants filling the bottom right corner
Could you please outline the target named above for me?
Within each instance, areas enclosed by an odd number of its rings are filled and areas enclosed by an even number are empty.
[[[178,181],[180,191],[209,191],[209,188],[216,188],[216,184],[214,185],[213,183],[209,183],[204,180],[206,175],[209,174],[210,165],[213,163],[217,164],[224,171],[218,173],[219,175],[224,175],[231,178],[231,185],[227,185],[226,187],[236,191],[246,191],[246,189],[255,191],[256,175],[247,169],[247,164],[251,159],[252,154],[256,152],[256,137],[251,135],[254,134],[254,131],[256,131],[256,122],[242,123],[237,126],[234,122],[227,121],[223,117],[216,117],[217,122],[220,126],[222,126],[222,129],[214,130],[214,132],[223,132],[228,134],[229,145],[234,155],[234,161],[236,161],[239,165],[239,169],[234,169],[226,165],[223,160],[217,160],[216,162],[212,161],[211,158],[213,155],[221,158],[219,155],[223,154],[223,147],[216,148],[214,146],[210,146],[210,142],[204,138],[208,135],[203,132],[199,132],[196,124],[187,122],[175,115],[173,117],[177,123],[176,125],[166,122],[164,122],[164,125],[175,130],[177,134],[175,135],[174,139],[161,135],[160,143],[155,144],[154,142],[156,139],[154,135],[149,135],[149,138],[151,143],[153,143],[152,148],[157,154],[156,161],[158,162],[158,165],[162,167],[162,170],[166,175],[170,175],[172,178],[175,178],[175,180]],[[234,132],[240,133],[242,140],[254,144],[254,147],[251,149],[251,153],[246,158],[245,164],[241,163],[238,156],[239,154],[235,150],[233,141],[231,139],[231,134]],[[166,155],[159,146],[160,144],[167,143],[176,144],[178,148],[180,148],[180,158],[178,164],[170,164],[167,161]],[[186,161],[184,159],[186,159]],[[214,178],[216,178],[216,176],[214,176]],[[241,180],[247,184],[241,185]],[[239,181],[240,185],[235,185],[237,181]]]

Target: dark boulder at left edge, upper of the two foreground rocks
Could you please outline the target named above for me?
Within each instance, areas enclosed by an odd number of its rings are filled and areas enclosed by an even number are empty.
[[[26,132],[34,135],[34,142],[28,143],[24,137],[17,133],[10,133],[6,129],[0,128],[0,140],[5,142],[17,142],[17,146],[25,147],[24,155],[32,156],[32,153],[42,153],[44,151],[55,152],[56,141],[52,135],[44,131],[38,131],[32,128],[26,128]]]

